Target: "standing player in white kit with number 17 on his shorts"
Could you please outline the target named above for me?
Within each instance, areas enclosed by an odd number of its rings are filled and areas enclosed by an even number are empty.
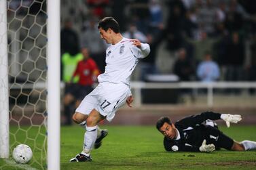
[[[98,76],[98,86],[86,95],[73,114],[73,121],[86,127],[86,133],[82,152],[71,158],[71,162],[92,161],[90,151],[96,140],[100,142],[107,135],[106,131],[98,130],[98,122],[111,121],[125,103],[131,107],[130,75],[139,60],[150,52],[147,43],[122,37],[119,24],[112,17],[100,20],[98,30],[100,38],[111,46],[106,50],[105,72]],[[97,133],[101,134],[97,137]]]

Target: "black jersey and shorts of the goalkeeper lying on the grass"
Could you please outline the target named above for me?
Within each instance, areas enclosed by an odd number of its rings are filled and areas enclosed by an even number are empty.
[[[164,137],[164,148],[167,151],[189,151],[199,152],[203,140],[206,144],[214,144],[216,148],[225,148],[230,150],[234,141],[224,135],[217,126],[206,125],[206,120],[221,119],[220,113],[202,112],[186,117],[175,123],[175,127],[179,131],[179,140],[170,140]]]

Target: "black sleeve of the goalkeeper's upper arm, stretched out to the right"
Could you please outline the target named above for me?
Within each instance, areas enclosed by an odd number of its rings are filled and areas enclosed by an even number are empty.
[[[202,112],[201,114],[192,115],[186,117],[185,119],[177,121],[177,123],[175,123],[175,126],[187,128],[195,125],[200,125],[207,119],[211,119],[213,121],[221,119],[221,114],[217,112]]]

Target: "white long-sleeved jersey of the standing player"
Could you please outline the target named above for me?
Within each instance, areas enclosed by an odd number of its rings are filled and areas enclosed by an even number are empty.
[[[141,49],[132,45],[130,39],[111,45],[106,50],[105,72],[98,76],[98,82],[130,83],[130,75],[138,64],[140,58],[149,55],[150,47],[141,43]]]

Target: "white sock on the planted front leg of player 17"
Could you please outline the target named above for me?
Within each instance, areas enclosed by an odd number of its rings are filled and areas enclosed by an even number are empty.
[[[84,133],[84,150],[83,152],[86,154],[90,154],[94,143],[97,138],[97,126],[94,127],[86,127],[86,133]]]

